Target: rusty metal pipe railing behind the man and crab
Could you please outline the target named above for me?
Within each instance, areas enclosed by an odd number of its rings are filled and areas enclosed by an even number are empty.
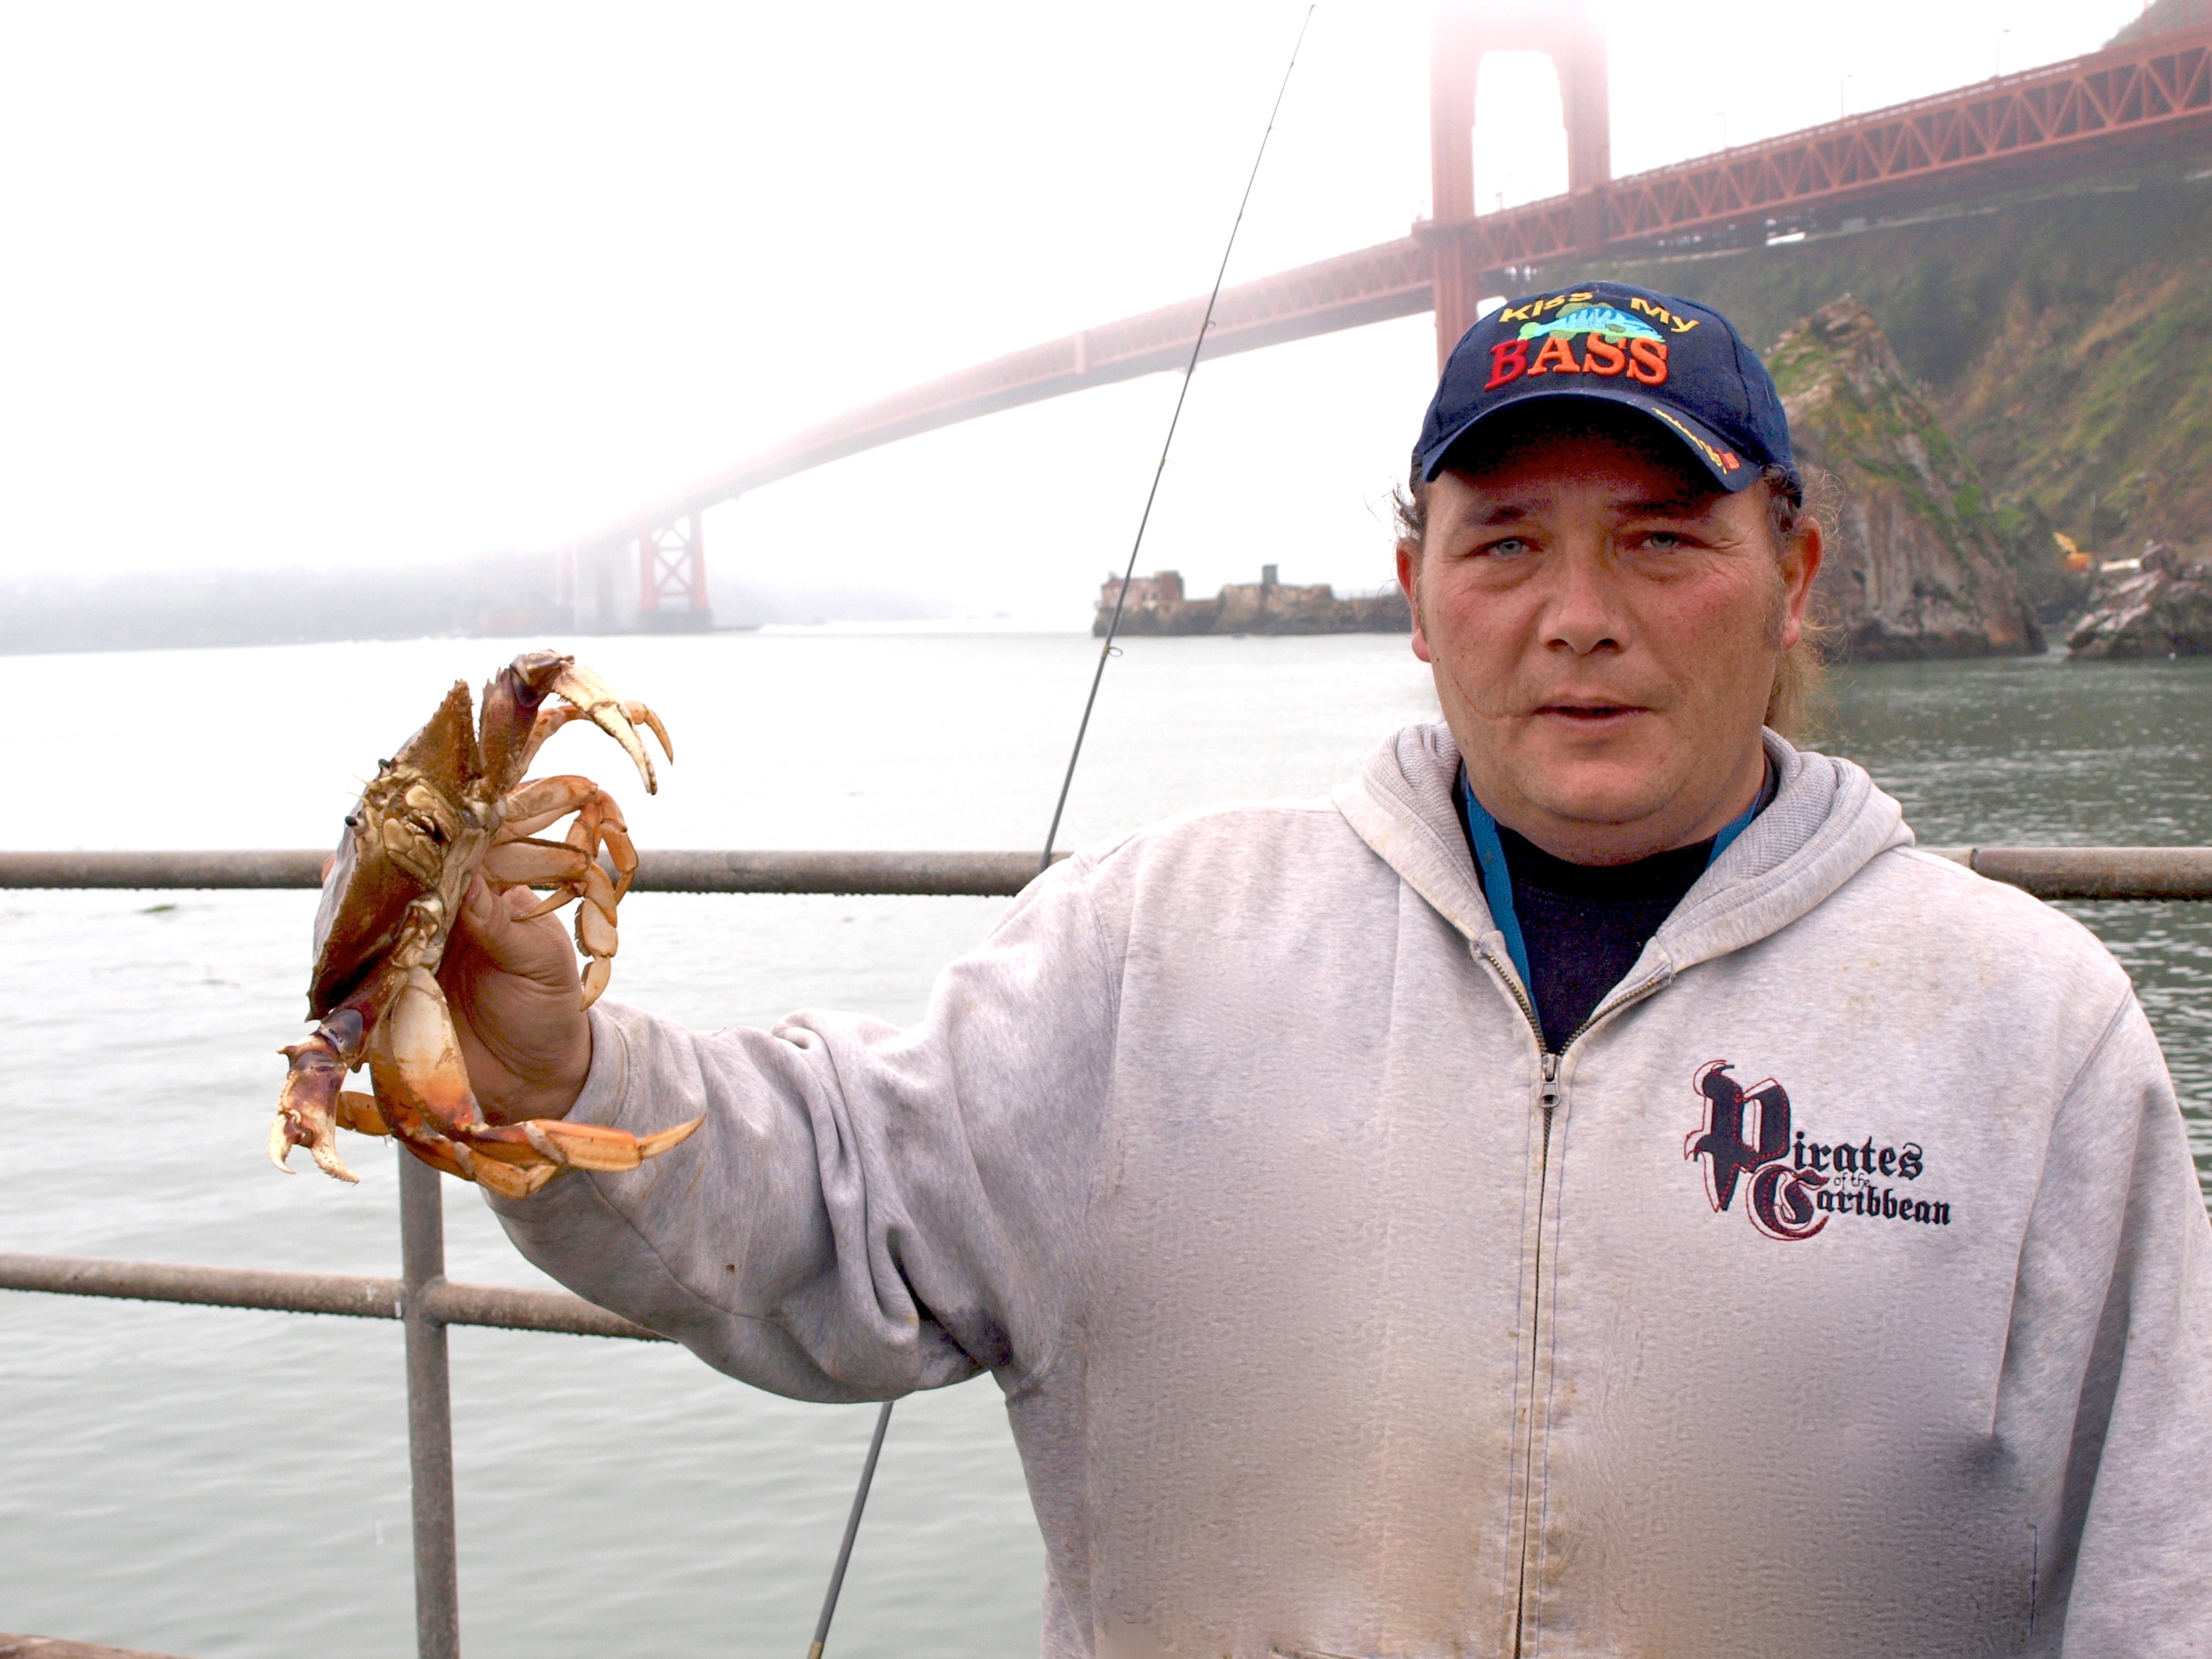
[[[2212,900],[2212,847],[1931,847],[2037,898]],[[0,887],[319,887],[323,852],[0,852]],[[1064,854],[1062,854],[1064,856]],[[1004,898],[1037,874],[1031,852],[646,852],[648,894],[971,894]],[[445,1199],[427,1164],[400,1157],[400,1276],[192,1267],[0,1254],[0,1290],[122,1296],[285,1314],[394,1318],[407,1338],[416,1646],[460,1655],[453,1537],[453,1409],[447,1325],[666,1343],[659,1332],[555,1290],[456,1285],[445,1276]]]

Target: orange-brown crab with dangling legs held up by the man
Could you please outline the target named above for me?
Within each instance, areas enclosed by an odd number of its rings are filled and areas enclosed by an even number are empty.
[[[549,699],[560,697],[560,703]],[[484,686],[473,723],[469,688],[456,681],[438,712],[383,761],[345,818],[345,838],[323,876],[314,916],[314,1035],[279,1053],[292,1062],[270,1126],[270,1159],[305,1146],[325,1175],[358,1179],[338,1157],[336,1128],[398,1135],[425,1164],[526,1197],[562,1170],[635,1170],[699,1124],[637,1139],[619,1128],[524,1119],[489,1124],[469,1091],[438,962],[469,883],[493,889],[551,887],[533,916],[580,898],[575,942],[584,1006],[606,989],[615,956],[615,905],[637,874],[622,810],[591,779],[522,781],[538,748],[573,719],[588,719],[637,763],[653,792],[653,757],[637,737],[668,732],[644,703],[624,703],[575,657],[529,650]],[[575,814],[566,838],[540,830]],[[615,876],[599,867],[606,852]],[[367,1062],[374,1095],[341,1093]]]

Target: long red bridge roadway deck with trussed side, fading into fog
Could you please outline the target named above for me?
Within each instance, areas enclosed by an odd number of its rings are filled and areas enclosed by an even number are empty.
[[[2141,166],[2212,146],[2212,27],[2128,42],[2088,58],[1851,115],[1626,179],[1323,259],[1221,290],[1206,356],[1442,310],[1471,319],[1480,292],[1531,268],[1624,252],[1725,248],[1845,217],[1986,199],[2084,173]],[[1595,201],[1590,197],[1597,197]],[[1601,223],[1597,241],[1577,226]],[[1464,292],[1438,305],[1438,276]],[[577,542],[635,546],[761,484],[936,427],[1177,369],[1203,299],[1031,345],[865,403]],[[1458,330],[1453,327],[1453,334]],[[1449,341],[1447,341],[1449,345]],[[697,540],[697,538],[692,538]]]

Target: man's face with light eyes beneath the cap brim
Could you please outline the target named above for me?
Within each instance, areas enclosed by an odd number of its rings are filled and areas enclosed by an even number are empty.
[[[1427,542],[1398,546],[1413,655],[1475,794],[1590,865],[1703,841],[1752,803],[1818,566],[1816,529],[1778,551],[1765,489],[1721,491],[1630,411],[1533,411],[1440,473]]]

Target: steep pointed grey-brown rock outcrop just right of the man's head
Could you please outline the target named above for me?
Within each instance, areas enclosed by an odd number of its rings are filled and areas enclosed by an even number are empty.
[[[1838,299],[1770,356],[1807,473],[1843,489],[1814,611],[1838,655],[1989,657],[2044,648],[1973,462],[1874,314]]]

